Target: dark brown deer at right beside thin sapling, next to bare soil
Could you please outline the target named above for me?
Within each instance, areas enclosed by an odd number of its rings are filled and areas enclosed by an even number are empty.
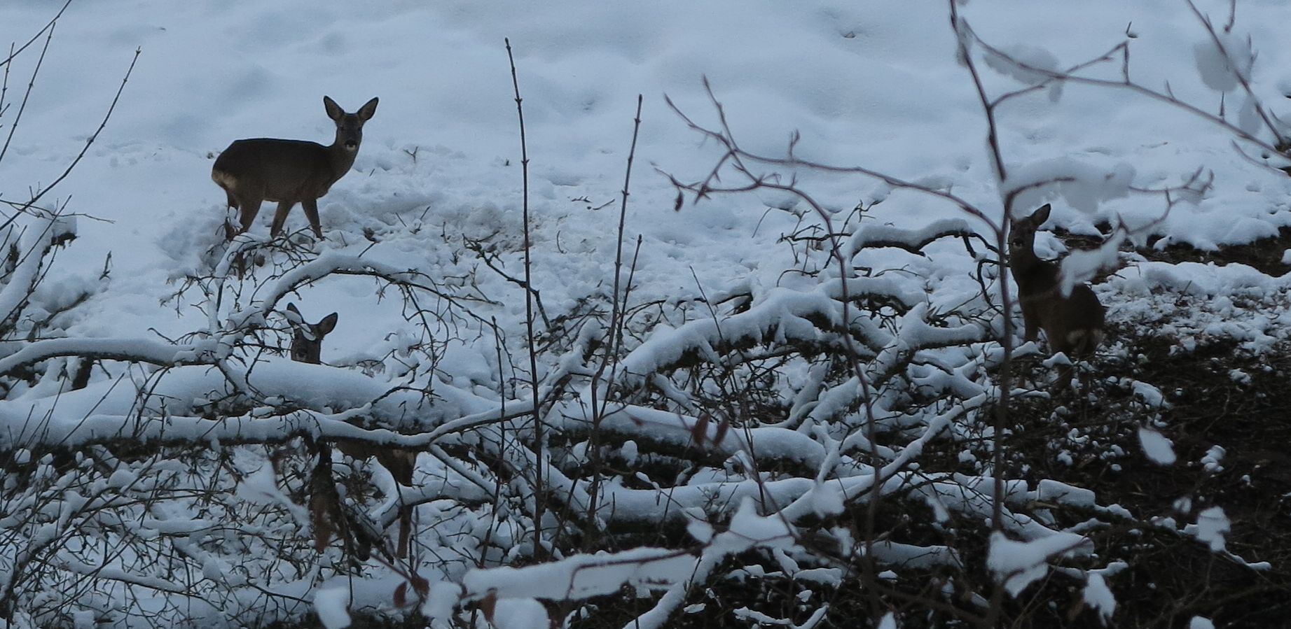
[[[1078,360],[1093,354],[1104,336],[1104,308],[1087,284],[1077,284],[1070,295],[1062,295],[1061,276],[1056,262],[1035,256],[1035,231],[1048,220],[1050,205],[1008,226],[1008,267],[1017,282],[1017,302],[1022,307],[1026,340],[1039,340],[1044,330],[1051,352],[1062,352]],[[1057,383],[1072,383],[1072,367],[1059,369]]]

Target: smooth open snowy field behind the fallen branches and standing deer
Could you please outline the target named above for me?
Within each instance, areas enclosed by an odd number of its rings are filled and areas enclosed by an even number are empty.
[[[1135,4],[1037,5],[1032,12],[984,4],[970,17],[990,41],[1035,46],[1060,64],[1101,54],[1123,39],[1128,24],[1137,35],[1132,62],[1139,82],[1161,88],[1170,81],[1180,98],[1216,111],[1220,95],[1197,71],[1195,49],[1206,41],[1195,18],[1175,1]],[[6,35],[30,37],[56,9],[44,1],[6,3]],[[1242,9],[1242,26],[1255,41],[1263,41],[1259,28],[1276,28],[1282,17],[1277,3]],[[502,46],[510,37],[532,153],[536,284],[547,300],[568,303],[605,281],[617,215],[613,206],[589,206],[617,200],[636,94],[646,103],[627,231],[646,238],[638,278],[648,294],[642,298],[693,295],[689,268],[714,287],[746,277],[773,286],[791,266],[775,240],[797,218],[773,211],[763,219],[768,204],[785,202],[766,196],[718,197],[669,211],[675,191],[656,170],[697,179],[714,164],[714,147],[701,144],[664,97],[697,120],[713,121],[701,85],[707,76],[750,151],[782,153],[797,130],[803,157],[932,180],[998,206],[980,106],[954,63],[946,13],[939,4],[889,10],[855,3],[811,9],[777,3],[574,4],[542,12],[470,3],[361,12],[285,3],[72,5],[9,147],[15,157],[0,171],[0,189],[15,198],[62,171],[102,117],[138,46],[143,53],[111,124],[58,188],[58,198],[75,200],[71,211],[110,222],[81,219],[80,229],[89,233],[59,268],[93,273],[111,253],[117,284],[94,311],[111,316],[86,311],[71,334],[192,330],[185,316],[194,312],[176,313],[158,302],[168,294],[167,280],[194,269],[195,254],[218,240],[225,200],[209,179],[213,156],[243,137],[327,142],[332,125],[323,94],[350,111],[381,97],[354,173],[321,202],[325,229],[396,233],[398,242],[367,255],[438,275],[452,254],[438,238],[444,231],[519,232],[519,138]],[[1278,57],[1286,53],[1278,46],[1259,53],[1256,88],[1277,103],[1283,90],[1291,92],[1291,77],[1276,73],[1287,66]],[[34,63],[35,57],[21,61]],[[10,90],[30,70],[14,64]],[[1104,75],[1117,70],[1113,64]],[[1214,170],[1215,189],[1206,198],[1177,208],[1153,229],[1166,242],[1214,249],[1291,224],[1291,182],[1246,162],[1229,134],[1184,112],[1123,92],[1069,86],[1057,103],[1037,95],[1002,117],[1012,164],[1056,157],[1103,168],[1124,164],[1141,187],[1177,184],[1198,168]],[[829,179],[811,191],[831,210],[883,193],[864,178]],[[1092,213],[1064,205],[1053,224],[1077,233],[1117,218],[1148,222],[1162,211],[1159,201],[1141,196],[1110,200]],[[897,195],[879,208],[874,220],[897,226],[957,215],[954,208],[918,196]],[[270,210],[261,214],[262,227]],[[426,224],[431,240],[399,233],[413,222]],[[294,210],[288,227],[303,224]],[[345,242],[330,240],[340,242],[324,249]],[[750,249],[759,255],[740,254]],[[352,358],[399,326],[398,312],[365,299],[365,286],[319,290],[324,293],[302,302],[327,303],[342,314],[329,358]]]

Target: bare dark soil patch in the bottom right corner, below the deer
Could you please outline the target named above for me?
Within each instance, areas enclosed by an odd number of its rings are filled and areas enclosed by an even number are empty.
[[[1291,357],[1245,356],[1229,342],[1193,352],[1179,352],[1172,339],[1159,336],[1124,343],[1133,360],[1099,365],[1096,401],[1068,400],[1066,409],[1057,401],[1019,401],[1015,412],[1033,423],[1030,431],[1019,431],[1012,447],[1025,452],[1019,459],[1035,465],[1021,476],[1087,487],[1099,504],[1124,507],[1143,523],[1174,518],[1168,526],[1126,522],[1091,535],[1103,561],[1119,558],[1128,565],[1108,579],[1118,603],[1114,626],[1186,626],[1193,616],[1210,617],[1216,626],[1287,626]],[[1157,387],[1170,406],[1146,409],[1119,385],[1127,379]],[[1155,424],[1174,442],[1175,464],[1144,456],[1137,441],[1144,424]],[[1066,463],[1037,456],[1038,449],[1052,450],[1064,440],[1081,443],[1066,445],[1069,455],[1075,452]],[[1090,442],[1097,446],[1088,447]],[[1223,455],[1219,468],[1207,469],[1202,459],[1217,452],[1214,446],[1223,447]],[[1122,454],[1108,455],[1115,451]],[[1234,557],[1176,532],[1211,507],[1220,507],[1230,522],[1225,541]],[[1072,513],[1062,521],[1081,518]],[[1078,619],[1051,625],[1013,620],[1011,626],[1096,626]]]

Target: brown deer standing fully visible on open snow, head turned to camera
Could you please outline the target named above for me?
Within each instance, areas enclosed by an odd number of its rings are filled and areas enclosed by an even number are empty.
[[[210,178],[225,189],[229,206],[238,208],[241,214],[240,229],[225,223],[229,240],[250,229],[261,202],[266,200],[278,202],[270,236],[283,231],[287,214],[301,204],[314,235],[323,240],[319,197],[327,195],[328,188],[354,166],[359,143],[363,142],[363,124],[377,112],[377,99],[368,101],[354,113],[346,113],[328,97],[323,97],[323,106],[328,117],[336,121],[332,146],[300,139],[239,139],[216,159]]]

